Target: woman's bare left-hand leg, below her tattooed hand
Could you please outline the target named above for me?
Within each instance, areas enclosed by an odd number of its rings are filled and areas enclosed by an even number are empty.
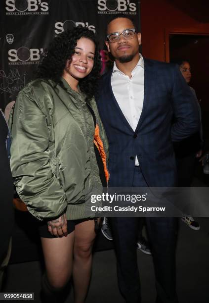
[[[75,231],[67,237],[41,238],[47,280],[54,289],[62,289],[72,275],[74,239]]]

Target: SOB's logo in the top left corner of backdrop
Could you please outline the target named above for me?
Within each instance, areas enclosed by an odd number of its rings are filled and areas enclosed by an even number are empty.
[[[6,15],[47,15],[48,3],[42,0],[6,0]]]

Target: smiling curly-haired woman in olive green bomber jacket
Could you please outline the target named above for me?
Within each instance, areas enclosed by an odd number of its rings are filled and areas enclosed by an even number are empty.
[[[90,196],[101,194],[109,178],[108,143],[93,98],[99,71],[93,32],[63,32],[15,105],[11,170],[20,198],[42,220],[42,293],[49,302],[71,274],[76,303],[84,302],[89,285],[97,223]]]

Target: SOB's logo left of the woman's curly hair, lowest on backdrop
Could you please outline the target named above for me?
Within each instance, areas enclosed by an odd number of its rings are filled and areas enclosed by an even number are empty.
[[[20,47],[18,50],[11,49],[8,51],[9,65],[31,65],[38,64],[43,49],[28,49]]]

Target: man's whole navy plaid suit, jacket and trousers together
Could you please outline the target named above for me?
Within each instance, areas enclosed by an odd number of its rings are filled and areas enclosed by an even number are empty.
[[[199,127],[197,102],[178,67],[144,59],[144,102],[135,132],[115,100],[111,75],[112,71],[102,77],[96,98],[109,140],[109,186],[175,186],[172,141],[190,136]],[[135,167],[135,155],[140,170]],[[109,218],[118,260],[119,287],[126,303],[141,302],[135,247],[139,219]],[[147,217],[146,221],[156,273],[156,302],[177,303],[175,218]]]

